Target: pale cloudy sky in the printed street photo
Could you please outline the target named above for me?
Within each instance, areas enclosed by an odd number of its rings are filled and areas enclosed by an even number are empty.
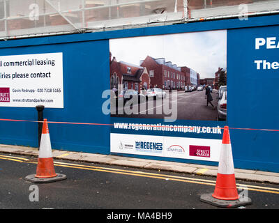
[[[227,31],[202,31],[160,36],[110,40],[110,52],[116,61],[140,65],[151,56],[165,58],[177,66],[188,66],[200,78],[215,77],[218,68],[227,68]]]

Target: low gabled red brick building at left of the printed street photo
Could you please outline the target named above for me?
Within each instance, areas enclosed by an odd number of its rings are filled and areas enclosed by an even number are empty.
[[[116,61],[110,53],[110,89],[133,89],[140,93],[149,89],[150,78],[146,68],[123,61]]]

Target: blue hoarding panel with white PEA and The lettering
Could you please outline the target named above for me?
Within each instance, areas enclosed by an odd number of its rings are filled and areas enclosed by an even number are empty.
[[[278,171],[279,26],[227,32],[228,125],[235,166]],[[277,169],[277,170],[276,170]]]

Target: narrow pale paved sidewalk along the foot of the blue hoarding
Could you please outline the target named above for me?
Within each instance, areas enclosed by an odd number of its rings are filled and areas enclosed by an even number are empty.
[[[17,155],[31,155],[38,157],[38,148],[25,146],[10,146],[0,144],[0,153]],[[156,169],[160,171],[174,171],[185,174],[202,176],[217,176],[218,167],[205,166],[200,164],[187,164],[181,162],[167,162],[160,160],[147,160],[133,157],[116,155],[102,155],[94,153],[80,153],[70,151],[52,150],[52,156],[56,160],[71,160],[90,162],[96,164],[109,164],[123,167],[136,167],[142,169]],[[255,182],[267,182],[279,184],[279,173],[256,171],[248,169],[234,169],[235,177],[239,180],[252,180]]]

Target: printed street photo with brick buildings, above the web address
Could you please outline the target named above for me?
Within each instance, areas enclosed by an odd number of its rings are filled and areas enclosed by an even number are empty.
[[[110,40],[113,117],[225,121],[227,31]]]

